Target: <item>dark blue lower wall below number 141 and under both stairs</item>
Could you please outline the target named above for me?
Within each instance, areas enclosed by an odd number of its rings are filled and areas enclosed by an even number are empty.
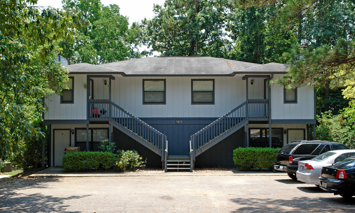
[[[168,138],[169,155],[189,155],[190,136],[217,118],[140,118]],[[179,123],[176,123],[178,121]],[[162,167],[161,157],[120,130],[113,128],[117,149],[137,150],[148,167]],[[233,150],[244,146],[243,128],[196,157],[195,167],[234,166]]]

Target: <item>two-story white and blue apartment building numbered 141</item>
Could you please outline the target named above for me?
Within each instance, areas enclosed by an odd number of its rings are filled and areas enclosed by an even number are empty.
[[[65,68],[69,90],[45,101],[51,166],[65,147],[98,150],[107,138],[147,166],[234,166],[233,149],[282,147],[316,123],[313,87],[269,84],[284,64],[150,57]]]

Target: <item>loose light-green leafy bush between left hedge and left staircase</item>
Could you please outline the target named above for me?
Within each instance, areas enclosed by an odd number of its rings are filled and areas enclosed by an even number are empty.
[[[147,160],[142,161],[142,157],[136,150],[119,150],[117,151],[116,166],[118,171],[132,170],[137,167],[146,166]]]

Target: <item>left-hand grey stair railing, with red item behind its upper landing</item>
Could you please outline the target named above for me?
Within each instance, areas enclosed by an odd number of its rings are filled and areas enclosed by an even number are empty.
[[[130,112],[124,110],[116,103],[108,99],[89,100],[90,120],[106,120],[118,127],[131,137],[135,138],[138,142],[143,142],[143,145],[150,148],[155,153],[162,156],[164,160],[166,135],[159,132],[149,124],[141,119],[132,115]]]

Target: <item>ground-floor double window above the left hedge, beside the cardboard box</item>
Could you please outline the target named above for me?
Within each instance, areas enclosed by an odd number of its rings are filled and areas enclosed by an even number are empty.
[[[89,128],[89,151],[100,151],[100,141],[108,139],[108,128]],[[75,146],[86,150],[86,128],[75,129]]]

